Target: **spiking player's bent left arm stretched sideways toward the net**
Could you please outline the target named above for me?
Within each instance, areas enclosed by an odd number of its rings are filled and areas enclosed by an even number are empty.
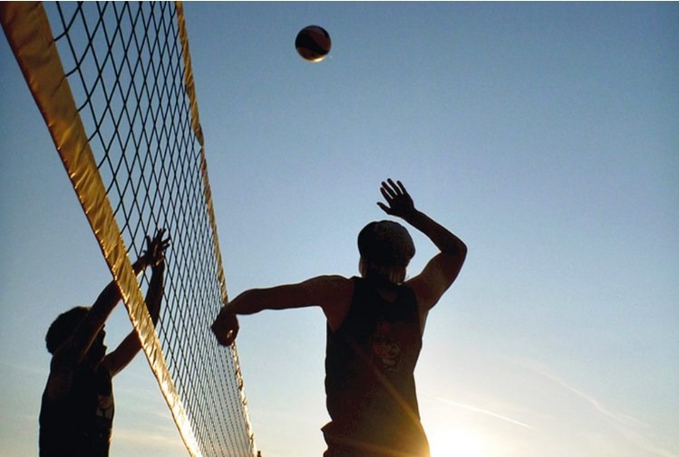
[[[238,314],[255,314],[265,309],[295,309],[318,306],[331,328],[344,319],[342,306],[348,303],[354,283],[338,275],[317,276],[296,284],[242,292],[228,302],[212,324],[212,332],[222,346],[229,346],[238,335]]]

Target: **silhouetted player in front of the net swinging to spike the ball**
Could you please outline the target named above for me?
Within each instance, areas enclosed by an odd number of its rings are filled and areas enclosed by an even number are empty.
[[[212,329],[220,344],[238,334],[238,314],[320,306],[327,319],[325,394],[331,422],[325,457],[428,457],[413,371],[430,309],[457,278],[467,255],[461,240],[418,211],[400,181],[380,188],[387,214],[400,217],[439,248],[405,281],[415,253],[408,231],[390,221],[358,235],[361,277],[318,276],[298,284],[247,290],[231,300]]]

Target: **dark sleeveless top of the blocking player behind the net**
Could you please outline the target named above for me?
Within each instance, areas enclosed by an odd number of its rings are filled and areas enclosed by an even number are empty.
[[[53,399],[44,390],[40,409],[40,457],[107,457],[113,424],[111,374],[78,367],[71,390]]]

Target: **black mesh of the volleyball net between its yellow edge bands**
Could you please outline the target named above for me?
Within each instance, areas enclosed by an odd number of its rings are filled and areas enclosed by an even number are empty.
[[[192,452],[251,456],[236,351],[218,348],[209,333],[225,286],[202,139],[191,127],[177,5],[64,2],[45,9],[131,260],[157,228],[172,240],[156,329],[199,445]]]

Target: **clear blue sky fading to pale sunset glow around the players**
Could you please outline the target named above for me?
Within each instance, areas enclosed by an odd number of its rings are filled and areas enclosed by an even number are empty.
[[[393,176],[470,248],[416,371],[432,457],[679,456],[679,5],[185,14],[231,296],[354,275]],[[307,24],[324,62],[296,55]],[[46,328],[111,276],[4,37],[0,68],[0,454],[28,457]],[[240,321],[258,447],[320,456],[322,312]],[[112,457],[187,455],[143,357],[114,387]]]

